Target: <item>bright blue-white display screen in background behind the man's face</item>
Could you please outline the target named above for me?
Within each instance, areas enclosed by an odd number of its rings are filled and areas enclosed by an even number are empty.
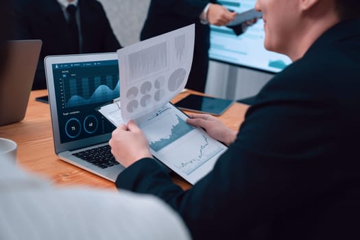
[[[245,12],[254,8],[256,0],[219,1],[230,10]],[[235,64],[269,73],[282,71],[291,60],[279,53],[267,51],[264,47],[265,32],[263,19],[248,27],[245,33],[237,36],[228,27],[211,25],[211,60]]]

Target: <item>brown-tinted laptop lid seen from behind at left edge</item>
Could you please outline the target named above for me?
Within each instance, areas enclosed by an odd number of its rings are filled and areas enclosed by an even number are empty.
[[[0,79],[0,125],[24,119],[41,45],[41,40],[8,41],[8,59]]]

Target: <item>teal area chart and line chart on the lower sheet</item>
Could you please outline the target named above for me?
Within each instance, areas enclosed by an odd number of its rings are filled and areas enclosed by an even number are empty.
[[[188,125],[186,119],[165,106],[146,125],[141,125],[150,148],[167,165],[189,175],[226,147],[206,133]]]

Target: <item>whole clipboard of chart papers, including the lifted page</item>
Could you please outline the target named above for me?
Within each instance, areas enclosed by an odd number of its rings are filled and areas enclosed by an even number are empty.
[[[133,119],[149,141],[152,155],[194,184],[204,177],[227,147],[169,103],[187,83],[195,27],[144,40],[117,51],[120,99],[99,112],[119,126]]]

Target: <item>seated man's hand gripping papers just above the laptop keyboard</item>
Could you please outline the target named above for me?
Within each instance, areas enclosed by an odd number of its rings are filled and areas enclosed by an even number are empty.
[[[129,167],[141,158],[152,158],[149,143],[134,121],[130,121],[128,126],[122,124],[115,129],[109,145],[112,155],[124,167]]]

